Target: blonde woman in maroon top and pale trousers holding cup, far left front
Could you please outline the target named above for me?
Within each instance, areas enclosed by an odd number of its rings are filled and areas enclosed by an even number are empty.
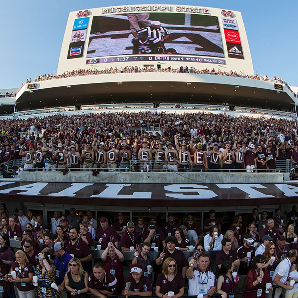
[[[18,296],[20,298],[35,298],[35,287],[34,285],[30,285],[32,283],[32,277],[34,275],[34,268],[29,263],[27,255],[22,251],[18,250],[15,253],[16,261],[12,264],[9,275],[11,271],[15,271],[16,277],[13,278],[5,275],[5,278],[10,282],[14,282],[17,284],[18,288]]]

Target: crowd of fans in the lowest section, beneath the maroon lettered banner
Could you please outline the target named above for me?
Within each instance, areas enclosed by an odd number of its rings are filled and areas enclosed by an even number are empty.
[[[151,217],[146,225],[139,216],[137,222],[124,220],[122,212],[113,218],[99,218],[100,225],[89,210],[82,217],[75,208],[70,214],[55,211],[47,225],[41,214],[23,209],[9,216],[1,204],[0,280],[6,297],[12,297],[15,282],[19,297],[58,297],[64,288],[72,296],[86,297],[90,291],[96,297],[124,296],[181,297],[188,283],[188,295],[209,298],[215,291],[223,298],[240,291],[244,297],[273,297],[283,290],[285,297],[298,294],[296,206],[274,218],[254,208],[242,224],[242,215],[235,216],[224,231],[214,209],[204,218],[204,231],[188,215],[182,224],[168,214],[163,224]],[[19,245],[16,253],[10,240]],[[91,266],[92,250],[99,250],[98,263]],[[189,258],[184,252],[189,251]],[[216,273],[210,269],[214,251]],[[123,254],[123,252],[130,252]],[[148,254],[149,252],[157,252]],[[214,261],[214,257],[212,257]],[[130,265],[124,276],[123,263]],[[127,275],[127,274],[125,274]],[[33,285],[32,285],[32,283]],[[36,288],[35,288],[36,286]]]

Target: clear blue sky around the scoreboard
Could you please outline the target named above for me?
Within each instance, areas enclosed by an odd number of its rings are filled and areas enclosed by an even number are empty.
[[[57,69],[70,11],[107,6],[103,1],[1,1],[0,89]],[[240,11],[254,70],[298,86],[297,1],[109,1],[124,4],[184,4]],[[291,5],[288,5],[291,3]]]

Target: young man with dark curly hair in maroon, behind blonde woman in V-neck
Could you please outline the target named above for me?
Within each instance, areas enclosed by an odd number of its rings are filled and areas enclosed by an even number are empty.
[[[172,257],[177,263],[177,272],[181,273],[184,278],[187,269],[187,260],[181,250],[175,249],[176,245],[178,245],[177,238],[173,236],[167,237],[165,243],[167,245],[166,251],[159,253],[155,261],[156,265],[162,265],[166,258]]]

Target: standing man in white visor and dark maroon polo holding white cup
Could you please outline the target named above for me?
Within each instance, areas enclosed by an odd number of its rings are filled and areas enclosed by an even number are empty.
[[[252,243],[254,238],[251,235],[245,235],[243,238],[243,245],[237,249],[237,254],[240,259],[240,265],[238,269],[239,281],[236,284],[237,292],[244,291],[246,286],[246,275],[252,265],[252,259],[254,258],[254,246]],[[250,252],[251,256],[247,257],[247,253]],[[236,292],[236,291],[235,291]]]

